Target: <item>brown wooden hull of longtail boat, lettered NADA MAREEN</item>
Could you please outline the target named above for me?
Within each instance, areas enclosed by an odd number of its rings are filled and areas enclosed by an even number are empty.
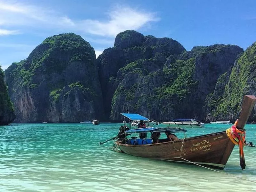
[[[186,138],[174,142],[128,145],[116,141],[116,144],[122,152],[132,156],[183,163],[194,162],[196,164],[219,169],[224,169],[235,146],[226,135],[226,131]]]

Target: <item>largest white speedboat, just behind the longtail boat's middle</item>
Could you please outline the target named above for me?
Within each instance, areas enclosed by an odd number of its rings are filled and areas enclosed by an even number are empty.
[[[204,123],[196,119],[175,119],[173,121],[163,122],[162,124],[168,125],[168,127],[178,128],[204,127]]]

